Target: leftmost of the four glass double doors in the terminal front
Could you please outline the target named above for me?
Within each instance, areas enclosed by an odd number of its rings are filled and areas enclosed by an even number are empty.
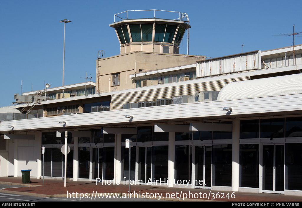
[[[103,148],[92,148],[92,180],[102,179]]]

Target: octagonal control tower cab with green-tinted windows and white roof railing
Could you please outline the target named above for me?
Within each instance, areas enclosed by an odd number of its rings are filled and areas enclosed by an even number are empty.
[[[153,17],[137,19],[146,13]],[[164,19],[167,16],[175,18]],[[162,10],[124,11],[114,15],[114,23],[109,26],[115,29],[120,41],[120,54],[133,51],[179,54],[182,37],[191,28],[186,13]]]

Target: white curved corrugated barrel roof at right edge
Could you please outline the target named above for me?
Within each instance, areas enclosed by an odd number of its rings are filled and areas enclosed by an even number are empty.
[[[275,76],[226,84],[217,100],[302,93],[302,74]]]

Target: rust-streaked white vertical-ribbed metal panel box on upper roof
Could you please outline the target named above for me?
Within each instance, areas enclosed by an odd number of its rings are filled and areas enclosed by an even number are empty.
[[[261,50],[198,61],[196,76],[211,76],[254,69],[261,69]]]

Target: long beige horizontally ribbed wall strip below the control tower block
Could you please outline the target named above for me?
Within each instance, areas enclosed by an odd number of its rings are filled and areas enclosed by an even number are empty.
[[[238,80],[249,80],[250,76],[236,78]],[[172,98],[172,96],[194,95],[196,91],[220,90],[227,83],[234,79],[216,80],[210,82],[200,82],[194,84],[177,85],[169,87],[159,87],[153,89],[140,89],[129,93],[111,95],[111,110],[123,109],[123,104],[127,102],[154,101],[162,98]],[[178,82],[179,83],[179,82]],[[156,85],[158,86],[158,85]]]

